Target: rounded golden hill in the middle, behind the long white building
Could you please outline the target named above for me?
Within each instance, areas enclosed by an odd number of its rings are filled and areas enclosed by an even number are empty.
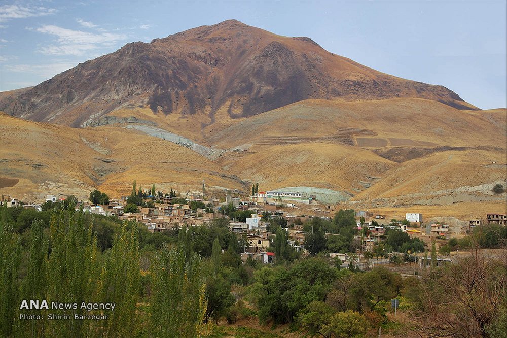
[[[265,189],[306,186],[344,192],[348,197],[376,182],[396,163],[368,150],[329,143],[254,146],[216,161]]]

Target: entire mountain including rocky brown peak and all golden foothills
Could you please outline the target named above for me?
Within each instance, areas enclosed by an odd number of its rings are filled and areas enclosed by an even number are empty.
[[[205,180],[214,196],[259,183],[395,217],[505,212],[491,190],[507,186],[506,109],[234,20],[0,95],[0,190],[25,200]]]

